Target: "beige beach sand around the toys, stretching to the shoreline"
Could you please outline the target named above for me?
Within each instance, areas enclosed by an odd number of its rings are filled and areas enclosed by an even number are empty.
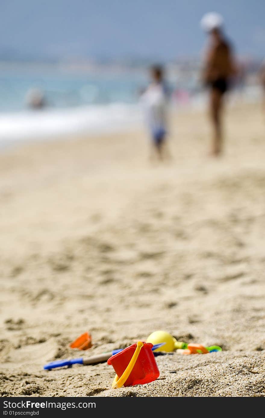
[[[141,127],[1,153],[2,396],[265,395],[265,123],[237,105],[225,124],[217,160],[201,112],[172,118],[170,164]],[[157,329],[223,352],[156,357],[158,380],[116,390],[106,363],[43,370],[84,331],[88,356]]]

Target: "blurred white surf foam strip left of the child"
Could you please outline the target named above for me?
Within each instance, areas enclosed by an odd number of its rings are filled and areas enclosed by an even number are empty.
[[[74,134],[128,129],[142,120],[132,104],[109,104],[72,109],[46,109],[0,114],[0,141],[38,140]]]

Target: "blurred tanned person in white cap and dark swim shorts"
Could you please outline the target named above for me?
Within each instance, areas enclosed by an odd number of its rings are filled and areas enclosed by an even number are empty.
[[[209,108],[213,125],[211,155],[222,153],[222,108],[225,92],[230,87],[236,67],[230,42],[222,31],[223,18],[218,13],[207,13],[201,20],[202,28],[210,37],[209,47],[204,60],[202,78],[209,87]]]

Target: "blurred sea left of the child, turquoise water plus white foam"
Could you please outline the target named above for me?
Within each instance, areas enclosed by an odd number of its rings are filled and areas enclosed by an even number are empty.
[[[139,91],[144,72],[73,71],[55,66],[0,65],[0,141],[101,133],[133,126],[142,119]],[[32,89],[45,106],[28,107]]]

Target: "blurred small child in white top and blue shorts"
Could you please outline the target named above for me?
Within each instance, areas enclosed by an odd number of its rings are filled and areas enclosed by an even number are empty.
[[[141,95],[146,112],[146,123],[151,136],[152,151],[159,160],[169,157],[166,149],[167,137],[167,91],[164,84],[164,71],[161,66],[150,69],[151,83]]]

